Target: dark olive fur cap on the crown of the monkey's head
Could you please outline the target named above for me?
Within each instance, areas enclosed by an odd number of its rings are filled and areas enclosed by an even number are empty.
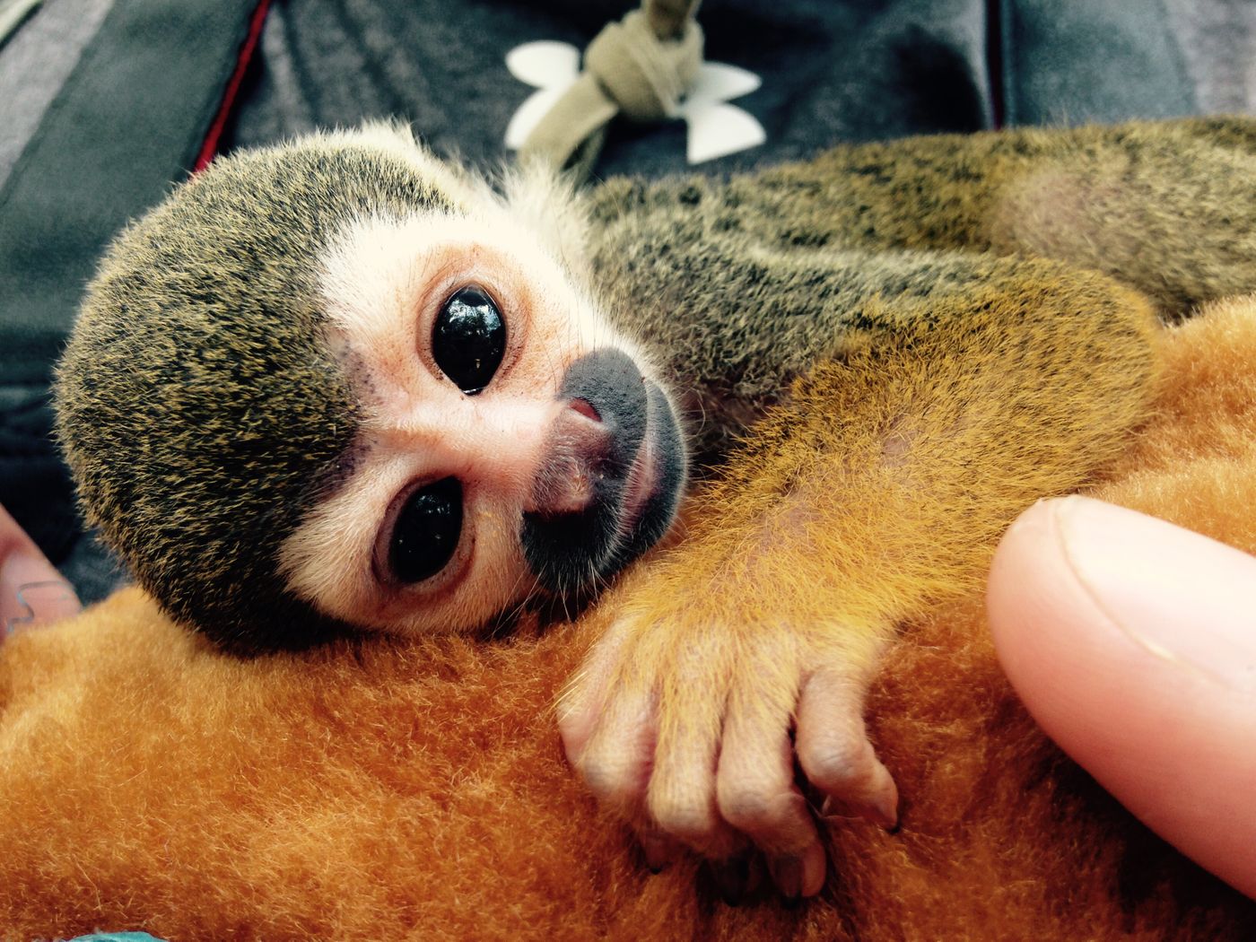
[[[215,162],[102,261],[58,435],[88,522],[178,620],[242,649],[334,628],[276,573],[355,433],[317,259],[329,226],[447,202],[399,156],[315,137]]]

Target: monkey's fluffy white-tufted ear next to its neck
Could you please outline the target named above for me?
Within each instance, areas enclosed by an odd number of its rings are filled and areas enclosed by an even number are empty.
[[[589,220],[574,178],[544,160],[524,158],[502,171],[501,192],[510,215],[535,232],[569,274],[584,278]]]

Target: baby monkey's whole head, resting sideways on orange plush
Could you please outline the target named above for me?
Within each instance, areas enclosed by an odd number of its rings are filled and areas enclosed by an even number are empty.
[[[118,237],[60,363],[89,522],[237,649],[598,588],[686,458],[578,230],[553,181],[499,197],[383,126],[215,162]]]

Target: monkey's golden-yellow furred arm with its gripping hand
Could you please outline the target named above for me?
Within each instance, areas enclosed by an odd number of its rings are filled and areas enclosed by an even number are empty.
[[[977,579],[1027,504],[1119,451],[1157,376],[1142,298],[1009,265],[1004,284],[848,311],[865,329],[767,413],[697,497],[701,522],[610,600],[560,722],[647,854],[679,839],[723,859],[749,838],[786,894],[818,892],[795,755],[836,808],[894,820],[862,718],[878,652]]]

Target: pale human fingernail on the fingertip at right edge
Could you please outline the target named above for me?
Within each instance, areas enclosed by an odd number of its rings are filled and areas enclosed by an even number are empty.
[[[1069,568],[1113,624],[1154,657],[1256,691],[1256,558],[1086,497],[1053,514]]]

